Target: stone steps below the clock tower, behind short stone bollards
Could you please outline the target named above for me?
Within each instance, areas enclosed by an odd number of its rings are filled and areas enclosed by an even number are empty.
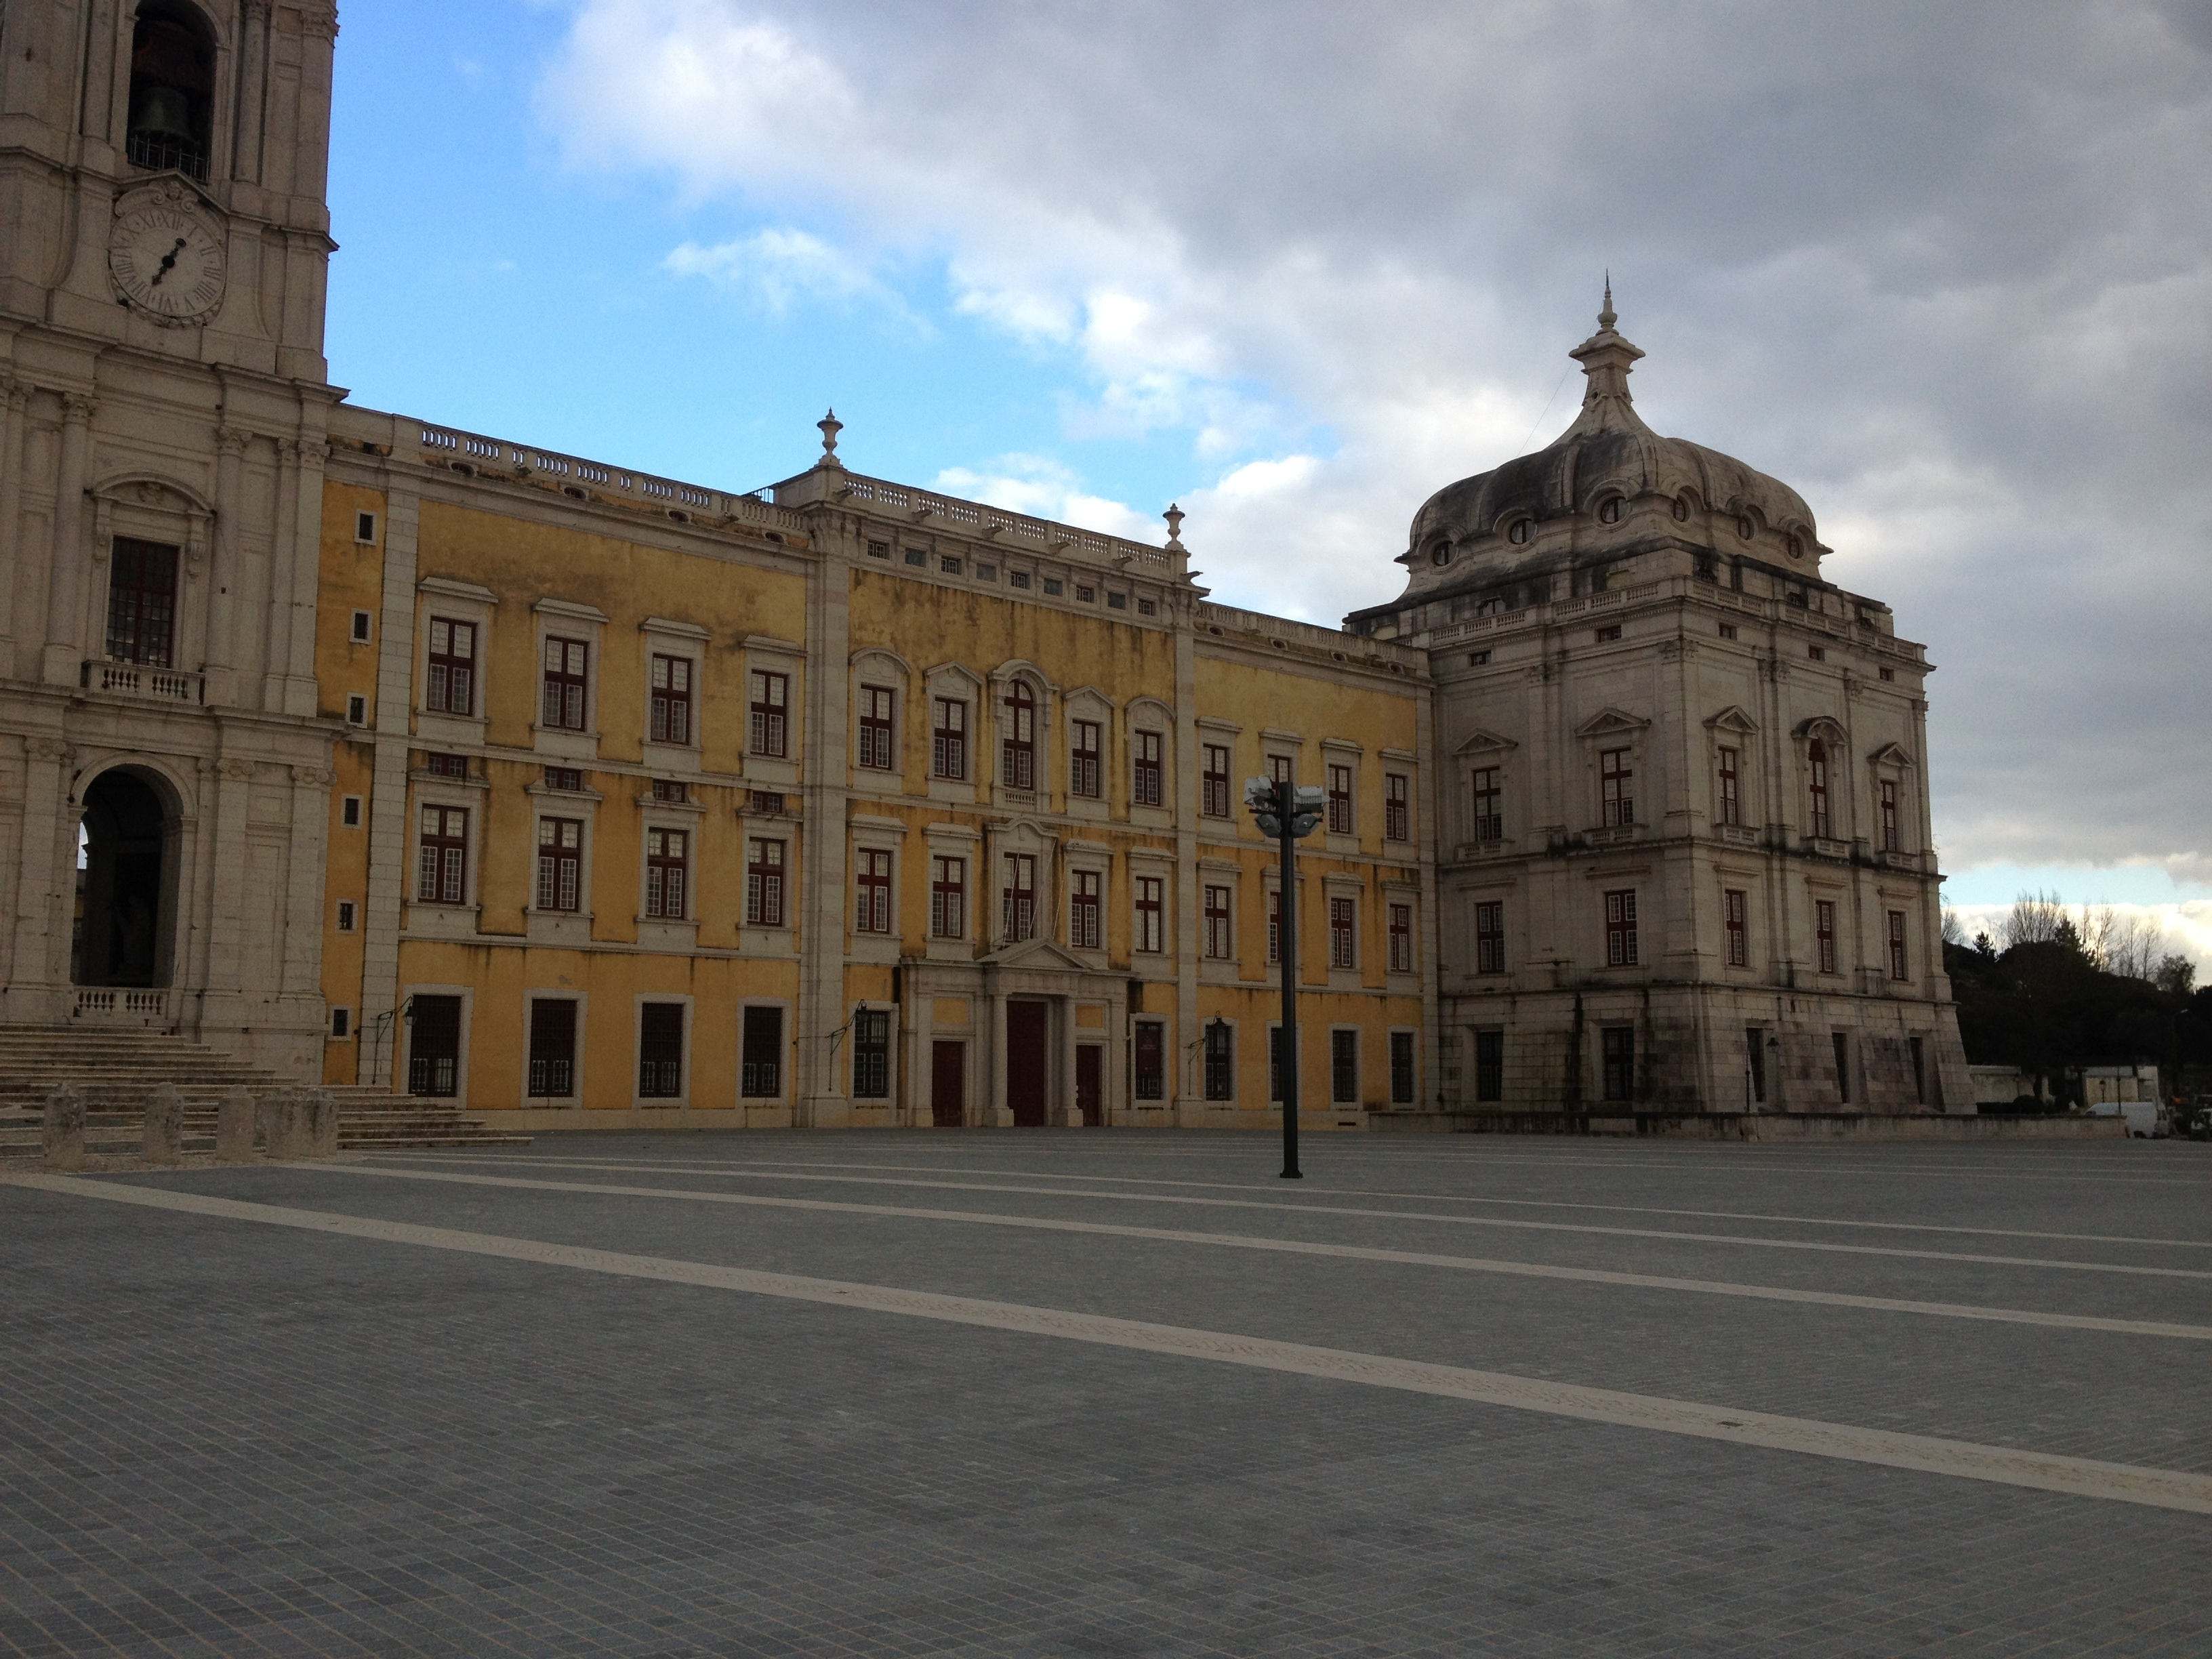
[[[46,1093],[62,1082],[84,1093],[84,1150],[115,1155],[139,1148],[155,1084],[177,1084],[184,1095],[188,1152],[215,1150],[215,1106],[228,1091],[285,1086],[270,1071],[166,1031],[0,1026],[0,1159],[40,1155]],[[529,1135],[429,1099],[363,1086],[330,1093],[338,1102],[338,1150],[529,1146]]]

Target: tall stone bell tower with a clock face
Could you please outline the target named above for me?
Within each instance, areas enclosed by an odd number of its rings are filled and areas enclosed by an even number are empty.
[[[0,1024],[319,1064],[336,31],[0,4]]]

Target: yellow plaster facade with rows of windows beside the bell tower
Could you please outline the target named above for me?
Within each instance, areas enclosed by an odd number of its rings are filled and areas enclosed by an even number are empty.
[[[1287,765],[1343,796],[1305,1117],[1422,1099],[1418,655],[827,451],[761,500],[334,420],[327,1082],[540,1128],[1281,1121],[1243,781]]]

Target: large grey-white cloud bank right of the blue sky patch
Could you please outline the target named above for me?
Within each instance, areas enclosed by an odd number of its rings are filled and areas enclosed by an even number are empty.
[[[546,97],[816,281],[942,268],[1071,361],[1064,431],[1188,431],[1208,582],[1314,619],[1522,447],[1610,265],[1646,418],[1794,484],[1931,646],[1947,856],[2201,872],[2208,44],[2126,0],[580,0]]]

